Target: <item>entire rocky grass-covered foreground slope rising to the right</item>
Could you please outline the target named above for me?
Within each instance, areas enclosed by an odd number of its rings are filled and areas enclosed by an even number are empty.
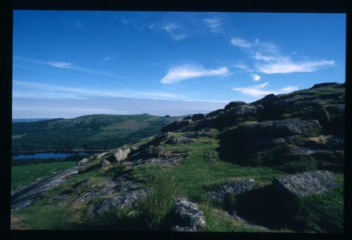
[[[343,189],[344,99],[344,84],[315,84],[190,115],[16,189],[11,214],[27,228],[36,220],[30,213],[45,218],[46,208],[75,216],[63,227],[73,229],[222,231],[212,226],[224,222],[225,231],[341,232],[343,198],[330,196]],[[330,216],[326,207],[315,217],[328,220],[302,216],[315,214],[314,201],[338,212]]]

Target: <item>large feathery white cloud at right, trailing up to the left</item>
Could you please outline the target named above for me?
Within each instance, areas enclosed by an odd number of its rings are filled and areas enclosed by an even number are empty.
[[[333,60],[293,61],[289,56],[284,56],[279,48],[272,43],[260,42],[255,39],[249,42],[245,39],[232,37],[232,46],[237,46],[256,60],[255,70],[265,74],[315,72],[325,67],[334,65]],[[296,52],[294,52],[296,54]]]

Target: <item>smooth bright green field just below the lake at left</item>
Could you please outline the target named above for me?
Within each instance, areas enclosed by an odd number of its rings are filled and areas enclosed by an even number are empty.
[[[75,166],[77,162],[40,163],[35,165],[15,166],[11,168],[11,190],[17,189],[35,180],[54,175],[67,168]]]

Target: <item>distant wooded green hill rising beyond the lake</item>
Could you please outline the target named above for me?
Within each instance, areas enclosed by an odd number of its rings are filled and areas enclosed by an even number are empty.
[[[85,115],[73,119],[13,122],[12,151],[112,149],[139,141],[177,119],[142,115]]]

